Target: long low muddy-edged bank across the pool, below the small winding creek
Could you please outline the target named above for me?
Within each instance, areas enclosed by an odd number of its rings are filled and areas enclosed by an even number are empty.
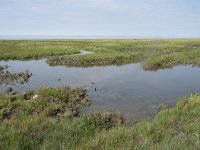
[[[55,56],[47,59],[50,66],[68,66],[68,67],[92,67],[108,65],[125,65],[137,62],[138,59],[132,54],[91,54],[91,55],[72,55],[72,56]]]

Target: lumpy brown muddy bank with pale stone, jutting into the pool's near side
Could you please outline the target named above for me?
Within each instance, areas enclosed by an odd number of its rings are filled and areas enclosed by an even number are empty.
[[[24,93],[0,95],[0,119],[11,119],[22,112],[51,118],[71,118],[79,115],[79,110],[91,104],[82,88],[40,88]],[[7,105],[7,104],[10,105]]]

